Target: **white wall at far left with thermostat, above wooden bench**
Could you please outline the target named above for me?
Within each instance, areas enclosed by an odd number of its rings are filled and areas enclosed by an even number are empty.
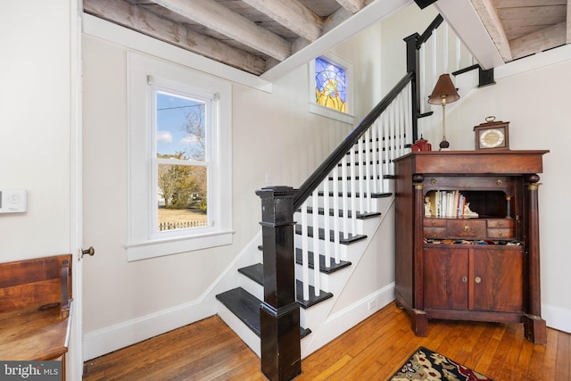
[[[28,211],[0,214],[0,261],[70,253],[70,2],[0,12],[0,190]]]

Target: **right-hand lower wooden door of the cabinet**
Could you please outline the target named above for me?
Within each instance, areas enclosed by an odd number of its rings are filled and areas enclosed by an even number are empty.
[[[521,248],[470,249],[469,266],[470,310],[524,310],[524,260]]]

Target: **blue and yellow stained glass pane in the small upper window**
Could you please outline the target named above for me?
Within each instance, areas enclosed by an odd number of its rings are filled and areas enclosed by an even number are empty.
[[[315,101],[338,112],[347,112],[346,72],[323,57],[315,59]]]

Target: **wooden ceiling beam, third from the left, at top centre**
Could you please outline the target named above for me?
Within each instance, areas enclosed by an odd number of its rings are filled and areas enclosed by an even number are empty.
[[[310,42],[321,36],[323,20],[297,0],[243,1]]]

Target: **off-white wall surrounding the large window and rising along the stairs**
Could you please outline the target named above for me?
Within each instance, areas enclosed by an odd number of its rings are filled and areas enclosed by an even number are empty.
[[[334,49],[335,54],[353,63],[359,73],[357,85],[365,90],[356,91],[355,104],[360,107],[355,110],[355,120],[361,120],[363,112],[379,101],[377,87],[365,74],[377,72],[378,78],[380,47],[368,52],[361,48],[368,38],[378,39],[378,33],[377,27],[360,34],[353,45],[346,43]],[[162,44],[160,49],[176,48]],[[307,111],[306,65],[273,83],[271,93],[234,83],[233,244],[128,262],[124,248],[127,51],[125,46],[99,37],[83,37],[84,241],[97,251],[84,266],[87,359],[117,349],[102,344],[103,337],[124,335],[117,345],[132,344],[141,339],[140,332],[132,337],[125,334],[132,327],[147,324],[152,327],[141,335],[156,335],[215,313],[212,301],[203,300],[203,295],[260,232],[261,203],[255,190],[269,185],[300,186],[352,129]],[[194,54],[179,51],[178,55],[186,57],[186,62],[195,60]],[[271,184],[266,184],[266,174],[272,178]],[[152,325],[149,321],[160,323]]]

